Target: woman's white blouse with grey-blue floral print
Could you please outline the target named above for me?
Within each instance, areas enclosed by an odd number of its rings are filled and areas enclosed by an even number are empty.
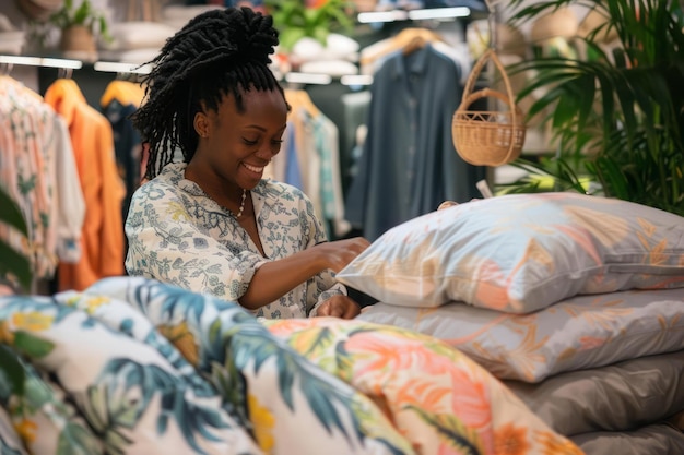
[[[129,275],[237,301],[261,265],[327,240],[310,200],[300,190],[263,179],[249,193],[262,256],[234,215],[185,178],[185,163],[167,165],[133,194],[126,220]],[[323,271],[253,314],[306,318],[339,294],[346,289],[331,271]]]

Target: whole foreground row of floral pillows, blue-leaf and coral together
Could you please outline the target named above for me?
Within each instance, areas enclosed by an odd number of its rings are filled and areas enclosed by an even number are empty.
[[[0,345],[1,454],[581,454],[435,338],[144,278],[2,297]]]

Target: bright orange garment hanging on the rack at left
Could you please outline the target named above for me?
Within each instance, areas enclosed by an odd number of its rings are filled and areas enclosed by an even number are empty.
[[[76,83],[55,81],[45,93],[45,101],[69,125],[85,199],[81,260],[59,263],[58,286],[59,290],[83,290],[101,278],[125,274],[121,204],[126,188],[117,170],[111,124],[87,104]]]

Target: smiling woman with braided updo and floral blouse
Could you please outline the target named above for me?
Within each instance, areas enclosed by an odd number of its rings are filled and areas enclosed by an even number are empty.
[[[211,10],[151,62],[133,116],[150,147],[149,181],[126,221],[127,271],[259,316],[351,319],[359,307],[333,273],[368,241],[327,241],[304,193],[262,179],[290,110],[269,69],[276,45],[271,16]]]

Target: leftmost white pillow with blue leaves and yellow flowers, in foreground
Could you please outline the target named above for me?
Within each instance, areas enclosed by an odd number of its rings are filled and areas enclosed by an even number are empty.
[[[261,454],[219,394],[188,375],[185,360],[137,313],[106,296],[73,292],[0,300],[2,342],[51,382],[46,387],[28,375],[25,399],[3,399],[31,452]]]

